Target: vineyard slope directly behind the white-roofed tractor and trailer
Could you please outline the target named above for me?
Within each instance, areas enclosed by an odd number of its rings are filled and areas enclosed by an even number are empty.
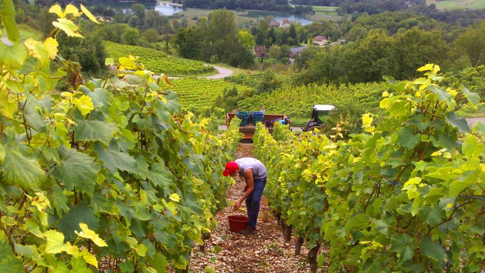
[[[333,104],[338,108],[351,104],[358,109],[371,110],[379,106],[378,98],[387,89],[386,85],[378,83],[360,83],[340,87],[317,84],[287,86],[271,93],[248,97],[238,103],[238,108],[244,111],[254,111],[264,105],[266,112],[298,117],[309,117],[314,104]]]

